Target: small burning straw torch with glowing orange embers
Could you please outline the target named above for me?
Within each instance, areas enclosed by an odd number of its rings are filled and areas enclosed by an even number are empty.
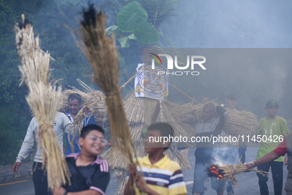
[[[216,177],[217,179],[226,179],[233,183],[233,186],[238,186],[238,181],[235,178],[235,175],[241,174],[245,172],[247,168],[242,165],[241,161],[238,164],[227,165],[223,164],[219,165],[212,165],[207,168],[208,176],[209,177]],[[256,173],[262,174],[263,176],[268,177],[268,172],[260,171],[257,169],[249,169],[249,171],[254,171]],[[238,186],[239,187],[239,186]]]

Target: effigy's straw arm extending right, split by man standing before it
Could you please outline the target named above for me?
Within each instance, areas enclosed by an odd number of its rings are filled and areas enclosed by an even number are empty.
[[[211,100],[206,103],[213,103],[215,107],[218,106],[218,104],[215,103],[215,100]],[[203,108],[206,103],[185,103],[182,105],[170,103],[170,111],[173,112],[173,116],[176,116],[175,119],[177,121],[194,125],[199,121],[199,119],[202,119]],[[222,131],[236,137],[239,135],[244,135],[245,137],[248,135],[254,135],[254,132],[258,126],[256,115],[245,110],[236,110],[232,108],[227,108],[226,110],[228,112],[228,117]]]

